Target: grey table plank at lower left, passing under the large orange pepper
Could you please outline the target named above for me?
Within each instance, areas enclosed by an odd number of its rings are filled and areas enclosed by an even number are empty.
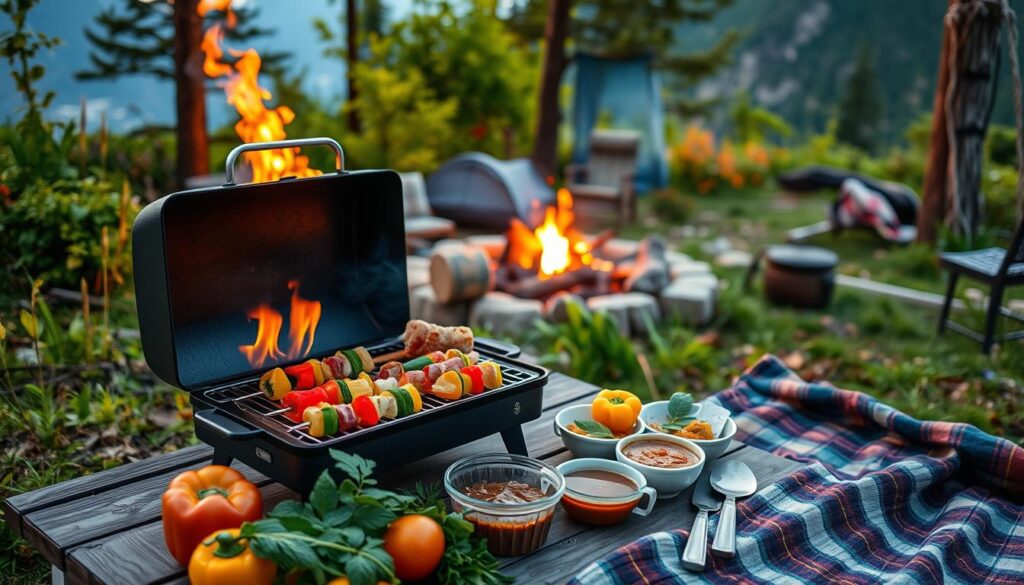
[[[269,484],[260,491],[266,509],[283,500],[298,498],[298,494],[281,484]],[[68,555],[66,574],[69,583],[145,585],[183,577],[185,568],[167,551],[163,524],[154,521],[73,549]]]

